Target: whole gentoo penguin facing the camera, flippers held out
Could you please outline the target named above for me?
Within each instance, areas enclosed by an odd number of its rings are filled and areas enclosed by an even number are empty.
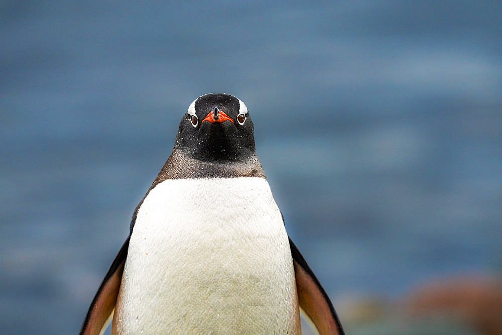
[[[80,334],[343,335],[326,292],[289,239],[242,101],[206,94],[134,211],[130,235]]]

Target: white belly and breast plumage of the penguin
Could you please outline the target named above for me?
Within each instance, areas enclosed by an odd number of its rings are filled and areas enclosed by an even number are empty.
[[[112,333],[301,333],[288,236],[267,180],[174,179],[152,189]]]

